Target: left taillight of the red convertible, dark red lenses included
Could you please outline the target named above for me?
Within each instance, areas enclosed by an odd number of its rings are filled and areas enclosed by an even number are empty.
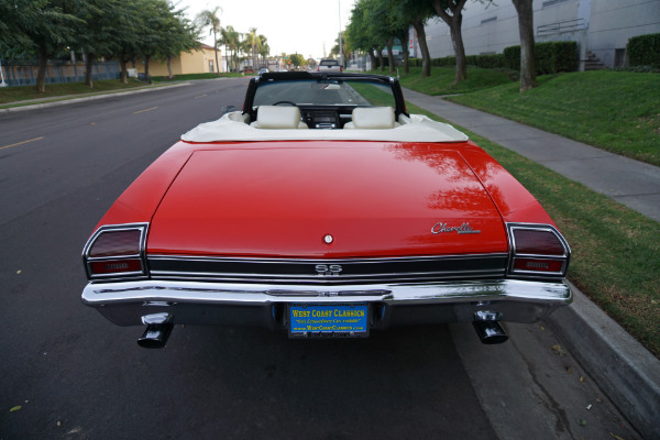
[[[99,228],[82,251],[87,277],[146,276],[146,223]]]

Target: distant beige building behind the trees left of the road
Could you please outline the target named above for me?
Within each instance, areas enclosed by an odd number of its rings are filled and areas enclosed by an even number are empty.
[[[220,72],[222,69],[222,54],[218,50],[218,61],[220,62]],[[216,72],[216,51],[212,46],[202,44],[197,51],[190,53],[183,52],[180,56],[170,61],[172,75],[187,74],[208,74]],[[144,62],[135,64],[139,74],[144,74]],[[152,58],[148,63],[148,73],[151,76],[167,76],[167,62]]]

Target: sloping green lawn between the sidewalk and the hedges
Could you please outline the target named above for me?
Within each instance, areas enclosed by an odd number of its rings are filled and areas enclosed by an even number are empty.
[[[518,88],[447,99],[660,166],[660,75],[572,73],[539,77],[539,87],[525,94]]]

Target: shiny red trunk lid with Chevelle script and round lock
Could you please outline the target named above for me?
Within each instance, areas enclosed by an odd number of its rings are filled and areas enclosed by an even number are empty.
[[[147,240],[150,254],[176,255],[506,251],[502,218],[458,150],[359,142],[200,148],[165,195]]]

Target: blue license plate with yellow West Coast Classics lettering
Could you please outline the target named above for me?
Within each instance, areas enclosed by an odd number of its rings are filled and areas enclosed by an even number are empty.
[[[290,338],[366,338],[369,305],[290,304]]]

